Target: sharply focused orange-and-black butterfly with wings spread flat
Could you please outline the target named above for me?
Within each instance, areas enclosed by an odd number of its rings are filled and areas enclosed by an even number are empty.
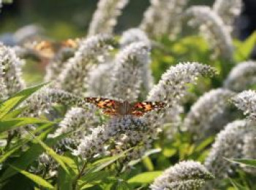
[[[136,102],[110,100],[108,98],[85,98],[87,103],[93,103],[98,108],[102,108],[103,113],[110,116],[143,116],[148,111],[164,108],[163,102]]]

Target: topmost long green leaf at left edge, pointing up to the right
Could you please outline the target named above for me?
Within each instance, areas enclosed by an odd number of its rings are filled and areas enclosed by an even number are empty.
[[[48,83],[45,83],[48,84]],[[12,109],[16,108],[20,103],[23,102],[23,100],[26,100],[32,93],[39,90],[41,87],[45,86],[45,84],[39,84],[36,87],[30,87],[25,90],[22,90],[15,95],[13,95],[11,98],[8,98],[4,102],[0,104],[0,119],[9,113]]]

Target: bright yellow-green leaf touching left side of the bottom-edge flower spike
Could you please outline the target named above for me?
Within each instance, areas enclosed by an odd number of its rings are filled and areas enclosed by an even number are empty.
[[[127,181],[129,184],[136,183],[136,184],[145,184],[145,183],[152,183],[155,178],[162,174],[162,171],[154,171],[154,172],[146,172],[140,173],[135,175],[132,178],[129,178]]]

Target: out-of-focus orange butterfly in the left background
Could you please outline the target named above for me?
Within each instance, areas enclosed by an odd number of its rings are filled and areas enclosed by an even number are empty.
[[[77,39],[67,39],[64,41],[39,41],[33,44],[26,44],[29,50],[33,51],[39,58],[50,60],[57,52],[64,48],[75,49],[78,47]]]

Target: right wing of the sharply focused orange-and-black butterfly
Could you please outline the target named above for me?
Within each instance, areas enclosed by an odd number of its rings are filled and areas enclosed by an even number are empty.
[[[132,106],[132,115],[143,116],[149,111],[164,108],[165,103],[163,102],[138,102]]]

